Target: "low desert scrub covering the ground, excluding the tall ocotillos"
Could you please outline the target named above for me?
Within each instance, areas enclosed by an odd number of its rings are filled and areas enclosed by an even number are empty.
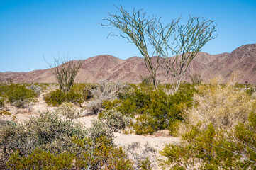
[[[36,105],[58,91],[51,84],[1,84],[1,169],[255,169],[255,97],[235,81],[173,84],[74,84],[80,102],[66,96],[52,111],[18,122],[15,100]],[[37,87],[36,87],[37,86]],[[52,89],[52,87],[54,87]],[[18,90],[27,89],[12,101]],[[166,92],[164,91],[166,88]],[[71,90],[72,91],[72,90]],[[12,95],[11,95],[12,96]],[[48,99],[45,104],[48,106]],[[69,102],[69,103],[67,103]],[[28,107],[28,103],[24,105]],[[79,122],[97,115],[89,128]],[[6,117],[14,116],[13,120]],[[150,135],[167,130],[181,142],[156,150],[140,142],[117,147],[114,133]],[[155,155],[158,155],[156,159]]]

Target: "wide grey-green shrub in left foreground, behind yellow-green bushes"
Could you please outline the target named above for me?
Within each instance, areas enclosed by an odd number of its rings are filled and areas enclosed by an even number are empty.
[[[0,125],[0,152],[3,164],[13,152],[28,156],[36,148],[52,153],[71,151],[75,148],[71,137],[84,138],[82,125],[62,120],[56,113],[45,111],[24,123],[5,122]]]

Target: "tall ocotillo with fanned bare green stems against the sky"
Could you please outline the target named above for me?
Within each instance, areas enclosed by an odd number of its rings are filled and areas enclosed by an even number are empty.
[[[133,9],[129,13],[123,6],[116,8],[118,13],[108,13],[104,18],[106,24],[102,26],[117,28],[121,34],[113,35],[125,38],[138,48],[155,89],[158,86],[157,69],[162,67],[165,84],[169,77],[174,78],[172,89],[177,92],[191,61],[208,41],[216,38],[213,35],[216,24],[211,20],[190,16],[187,23],[181,23],[180,17],[165,24],[160,18],[147,16],[142,9]]]

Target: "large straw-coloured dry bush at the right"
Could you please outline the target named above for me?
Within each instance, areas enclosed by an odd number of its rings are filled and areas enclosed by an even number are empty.
[[[235,89],[234,85],[234,81],[221,84],[221,78],[217,77],[209,84],[198,86],[199,93],[194,95],[195,105],[185,112],[187,123],[181,125],[180,133],[199,122],[202,128],[213,123],[215,128],[226,129],[245,123],[255,107],[255,100],[245,91]]]

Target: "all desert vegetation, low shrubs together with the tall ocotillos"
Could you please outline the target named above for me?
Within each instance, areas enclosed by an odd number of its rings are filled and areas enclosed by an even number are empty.
[[[81,60],[55,60],[57,84],[0,84],[0,169],[256,169],[255,86],[220,77],[203,82],[198,74],[182,81],[216,38],[213,21],[178,18],[164,25],[141,10],[118,11],[106,26],[138,47],[150,77],[140,76],[140,84],[74,84]],[[164,82],[157,81],[159,67]],[[34,115],[17,120],[25,109]],[[161,149],[148,141],[116,145],[117,134],[164,132],[180,140]]]

